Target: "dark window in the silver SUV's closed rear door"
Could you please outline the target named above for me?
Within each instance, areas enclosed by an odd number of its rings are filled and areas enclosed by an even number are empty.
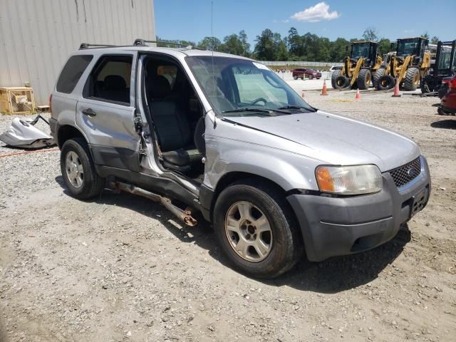
[[[103,56],[88,79],[85,97],[130,104],[133,56]]]

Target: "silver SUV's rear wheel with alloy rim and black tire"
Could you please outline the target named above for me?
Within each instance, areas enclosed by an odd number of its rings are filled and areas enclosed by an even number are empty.
[[[83,138],[67,140],[62,146],[60,166],[63,180],[71,196],[89,199],[100,195],[105,182],[95,171],[86,140]]]

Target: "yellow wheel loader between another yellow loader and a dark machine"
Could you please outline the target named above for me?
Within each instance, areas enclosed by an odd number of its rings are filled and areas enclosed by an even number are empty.
[[[394,43],[391,44],[392,49]],[[427,38],[400,38],[395,54],[374,75],[378,90],[391,89],[398,82],[402,90],[416,90],[430,67]]]

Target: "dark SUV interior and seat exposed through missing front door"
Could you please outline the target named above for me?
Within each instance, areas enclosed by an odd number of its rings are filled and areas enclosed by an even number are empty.
[[[193,179],[202,176],[202,105],[182,68],[172,60],[148,57],[145,93],[162,166]]]

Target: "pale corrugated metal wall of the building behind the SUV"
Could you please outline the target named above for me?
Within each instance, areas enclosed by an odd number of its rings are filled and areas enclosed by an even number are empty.
[[[0,0],[0,86],[31,83],[37,104],[86,43],[155,40],[153,0]]]

